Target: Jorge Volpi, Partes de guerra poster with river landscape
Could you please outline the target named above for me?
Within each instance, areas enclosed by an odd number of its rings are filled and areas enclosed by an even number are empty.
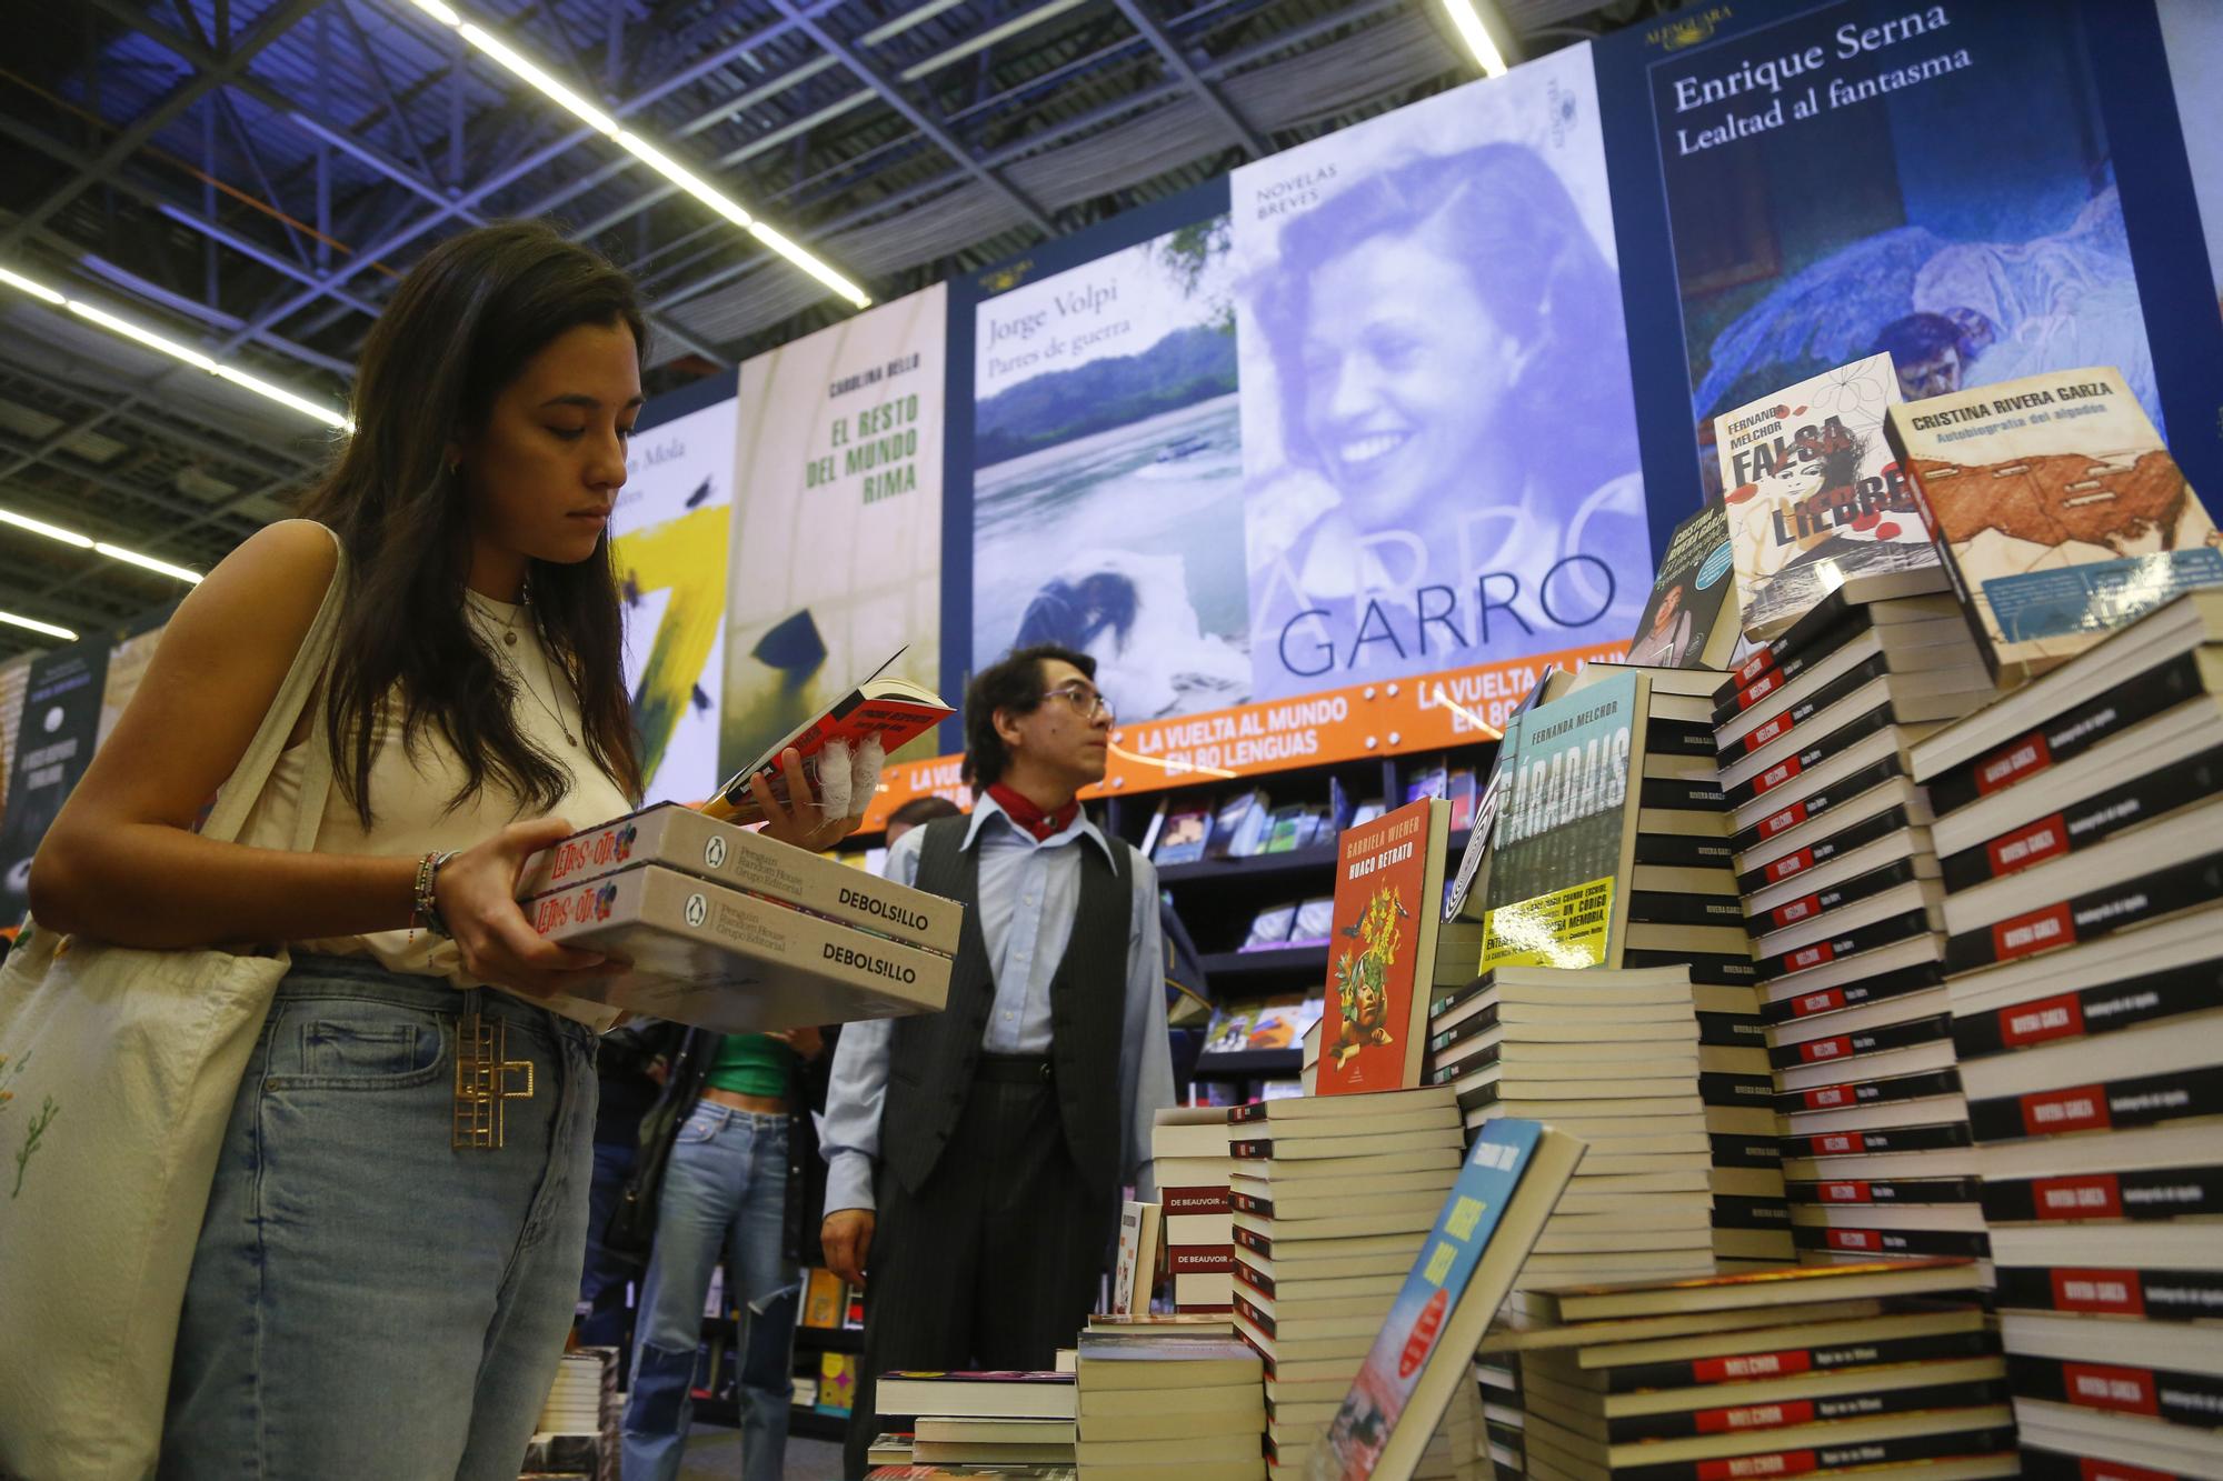
[[[1227,218],[974,316],[974,667],[1096,658],[1120,718],[1252,698]]]

